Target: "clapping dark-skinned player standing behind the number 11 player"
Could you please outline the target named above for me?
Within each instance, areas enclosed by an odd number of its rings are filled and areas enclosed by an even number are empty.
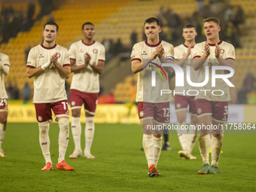
[[[94,136],[94,115],[99,94],[99,75],[105,65],[105,47],[93,40],[95,26],[87,22],[82,25],[84,38],[71,45],[69,57],[71,72],[74,72],[70,92],[70,105],[72,110],[72,134],[75,150],[69,156],[76,159],[83,156],[81,150],[81,107],[85,111],[85,149],[84,157],[94,159],[90,153]]]

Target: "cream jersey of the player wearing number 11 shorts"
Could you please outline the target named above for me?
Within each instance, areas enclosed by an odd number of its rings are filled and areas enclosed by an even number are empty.
[[[58,62],[61,66],[70,66],[69,53],[65,47],[55,44],[53,47],[44,47],[39,44],[29,51],[27,68],[37,68],[44,65],[50,56],[58,53]],[[50,103],[67,99],[65,78],[59,74],[51,64],[44,72],[34,77],[33,103]]]

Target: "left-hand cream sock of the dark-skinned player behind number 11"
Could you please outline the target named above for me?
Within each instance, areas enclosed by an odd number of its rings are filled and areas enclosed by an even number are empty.
[[[80,117],[71,117],[71,130],[75,143],[75,150],[81,151],[81,123]]]

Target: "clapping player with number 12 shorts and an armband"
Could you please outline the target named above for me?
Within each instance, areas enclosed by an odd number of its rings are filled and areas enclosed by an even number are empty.
[[[167,76],[163,81],[160,75],[155,75],[157,86],[151,86],[153,71],[163,70],[164,74],[173,72],[172,68],[161,67],[162,63],[173,62],[174,59],[172,44],[159,39],[161,30],[156,18],[145,20],[144,32],[147,40],[135,44],[131,54],[132,71],[134,74],[138,73],[136,102],[143,126],[143,148],[150,177],[160,175],[157,172],[157,162],[162,147],[163,130],[155,131],[148,127],[169,124],[169,102],[172,100],[170,94],[160,96],[160,90],[169,89]]]

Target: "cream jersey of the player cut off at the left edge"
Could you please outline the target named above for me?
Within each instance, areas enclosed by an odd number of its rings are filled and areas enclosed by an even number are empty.
[[[5,74],[8,75],[10,69],[9,56],[0,53],[0,99],[8,99],[5,90]]]

